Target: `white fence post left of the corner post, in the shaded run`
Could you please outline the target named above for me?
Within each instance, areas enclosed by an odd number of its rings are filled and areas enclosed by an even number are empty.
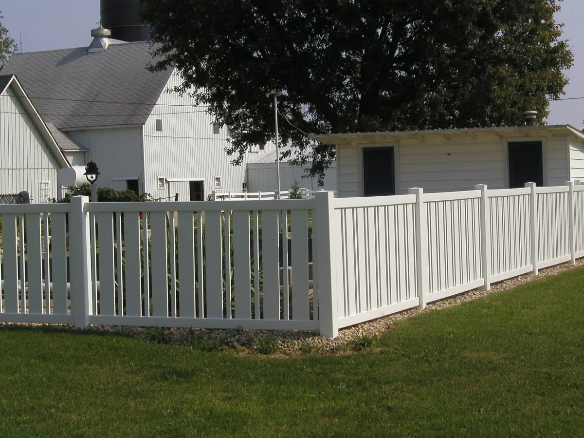
[[[75,315],[77,327],[89,325],[89,315],[93,308],[89,275],[89,213],[85,211],[88,202],[87,196],[73,196],[69,213],[71,313]]]

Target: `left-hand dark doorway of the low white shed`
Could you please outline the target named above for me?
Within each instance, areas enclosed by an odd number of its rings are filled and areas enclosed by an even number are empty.
[[[393,147],[363,148],[363,195],[395,195]]]

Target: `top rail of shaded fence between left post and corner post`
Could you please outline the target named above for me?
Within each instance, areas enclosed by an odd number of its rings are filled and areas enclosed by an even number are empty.
[[[270,201],[179,201],[179,202],[88,202],[85,211],[91,213],[110,212],[221,212],[269,211],[269,210],[312,210],[314,199],[275,199]]]

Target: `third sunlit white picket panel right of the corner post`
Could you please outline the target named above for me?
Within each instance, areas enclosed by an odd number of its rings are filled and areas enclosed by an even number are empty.
[[[530,189],[489,190],[491,281],[530,272]]]

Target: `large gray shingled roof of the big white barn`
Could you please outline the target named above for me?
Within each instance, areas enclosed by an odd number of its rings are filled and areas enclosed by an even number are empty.
[[[143,125],[172,71],[150,73],[150,43],[112,44],[14,54],[2,74],[16,74],[46,122],[58,129]]]

